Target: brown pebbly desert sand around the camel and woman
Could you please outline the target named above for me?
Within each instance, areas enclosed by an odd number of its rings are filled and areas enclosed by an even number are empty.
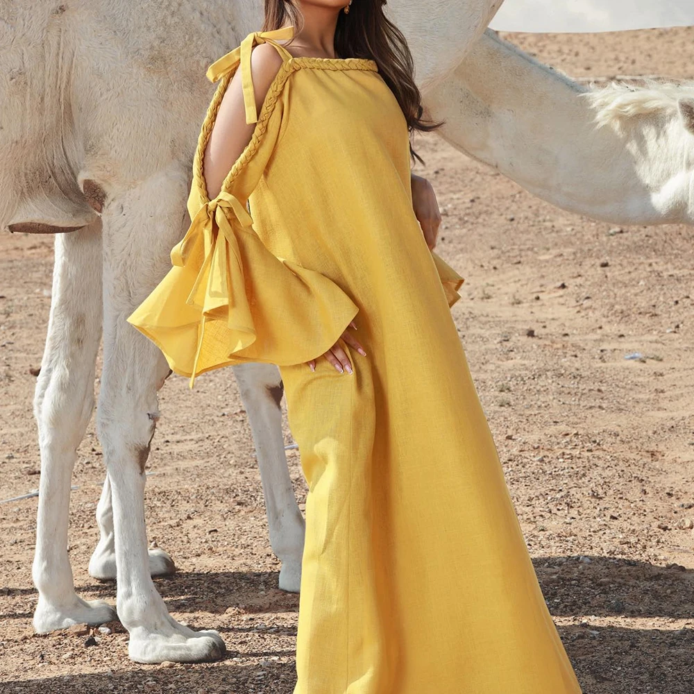
[[[514,39],[576,76],[693,76],[694,29]],[[420,139],[418,149],[445,215],[438,250],[466,277],[453,315],[584,692],[691,694],[691,228],[595,223],[532,198],[439,139]],[[42,354],[51,247],[49,238],[0,237],[0,499],[38,483],[30,369]],[[648,358],[625,359],[635,351]],[[291,693],[298,596],[276,587],[232,372],[201,378],[193,392],[171,378],[161,409],[147,522],[179,573],[158,589],[176,618],[219,629],[228,656],[139,666],[119,625],[96,632],[91,648],[85,633],[34,635],[36,500],[24,500],[0,505],[3,693]],[[286,424],[285,434],[291,441]],[[289,464],[303,500],[291,451]],[[113,601],[114,586],[86,572],[102,477],[91,426],[74,473],[70,557],[79,593]]]

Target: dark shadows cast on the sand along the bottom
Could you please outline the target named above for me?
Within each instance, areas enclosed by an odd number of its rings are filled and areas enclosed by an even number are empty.
[[[694,616],[693,571],[607,557],[539,557],[534,559],[534,566],[552,614],[586,620],[582,625],[559,627],[584,694],[693,693],[694,620],[692,627],[667,628],[668,620],[689,620]],[[298,595],[280,591],[277,582],[276,572],[178,573],[157,579],[169,609],[178,613],[222,614],[229,607],[242,607],[251,613],[296,611]],[[99,591],[107,599],[114,597],[112,584],[85,588]],[[591,623],[596,618],[600,626]],[[605,626],[606,618],[612,618],[615,624]],[[659,618],[663,628],[639,628],[638,623],[648,618]],[[629,619],[635,620],[633,628],[628,625]],[[227,634],[230,654],[221,663],[176,668],[146,666],[113,674],[15,681],[7,691],[12,694],[292,693],[293,662],[257,664],[259,657],[285,659],[291,657],[291,652],[269,648],[239,655],[234,650],[233,634],[243,633],[246,627],[225,628],[214,623],[205,626]],[[294,636],[296,629],[287,627],[281,633]],[[253,663],[244,663],[245,659],[253,659]],[[461,677],[464,678],[463,672]]]

